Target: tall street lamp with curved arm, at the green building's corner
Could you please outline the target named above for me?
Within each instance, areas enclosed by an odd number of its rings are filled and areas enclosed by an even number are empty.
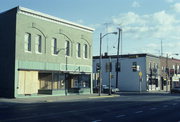
[[[109,34],[117,34],[117,32],[110,32],[110,33],[106,33],[104,35],[102,35],[102,33],[100,33],[100,58],[99,58],[99,66],[100,66],[100,70],[99,70],[99,96],[101,96],[101,85],[102,85],[102,54],[101,54],[101,47],[102,47],[102,39],[109,35]]]

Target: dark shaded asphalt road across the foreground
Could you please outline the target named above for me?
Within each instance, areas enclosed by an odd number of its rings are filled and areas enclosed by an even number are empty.
[[[180,122],[180,95],[121,95],[67,102],[0,103],[0,122]]]

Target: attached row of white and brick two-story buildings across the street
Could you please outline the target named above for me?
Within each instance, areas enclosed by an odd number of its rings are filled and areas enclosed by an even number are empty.
[[[94,87],[99,85],[99,58],[93,57]],[[111,84],[120,91],[170,91],[180,82],[179,67],[179,59],[146,53],[119,56],[106,53],[102,56],[102,85]]]

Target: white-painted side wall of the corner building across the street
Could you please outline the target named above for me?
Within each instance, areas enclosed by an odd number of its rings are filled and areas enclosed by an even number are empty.
[[[102,85],[109,84],[109,72],[106,72],[106,65],[110,61],[109,56],[102,59]],[[112,57],[112,78],[111,85],[116,87],[116,62],[117,58]],[[159,90],[155,85],[149,85],[148,76],[148,62],[146,56],[144,57],[123,57],[119,58],[120,72],[118,73],[118,88],[120,91],[150,91]],[[138,71],[133,71],[133,63],[139,66]],[[96,74],[96,64],[99,63],[99,59],[93,59],[93,72]],[[140,80],[139,72],[142,72],[142,80]],[[140,73],[141,74],[141,73]],[[158,78],[159,79],[159,78]],[[94,80],[94,84],[97,84],[97,80]]]

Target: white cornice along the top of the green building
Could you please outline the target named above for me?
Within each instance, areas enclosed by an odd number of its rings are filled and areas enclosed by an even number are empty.
[[[24,12],[24,13],[31,14],[31,15],[38,16],[38,17],[42,17],[42,18],[45,18],[45,19],[48,19],[48,20],[51,20],[51,21],[54,21],[54,22],[59,22],[59,23],[65,24],[65,25],[80,28],[80,29],[83,29],[83,30],[86,30],[86,31],[93,32],[95,30],[95,29],[87,27],[87,26],[83,26],[83,25],[80,25],[80,24],[77,24],[77,23],[74,23],[74,22],[70,22],[70,21],[55,17],[55,16],[51,16],[51,15],[48,15],[48,14],[45,14],[45,13],[42,13],[42,12],[39,12],[39,11],[24,8],[24,7],[21,7],[21,6],[17,6],[15,8],[9,9],[9,10],[4,11],[2,13],[8,12],[8,11],[11,11],[11,10],[14,10],[14,9],[17,10],[17,13],[18,12]]]

